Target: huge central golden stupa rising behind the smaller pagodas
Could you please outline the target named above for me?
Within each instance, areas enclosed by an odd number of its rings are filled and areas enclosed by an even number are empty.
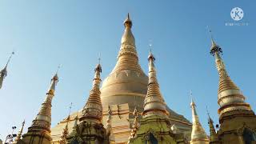
[[[129,14],[125,22],[125,31],[122,35],[121,47],[118,53],[118,62],[114,70],[105,78],[101,88],[103,106],[103,124],[106,127],[109,106],[111,113],[111,126],[115,143],[126,143],[130,136],[131,125],[134,122],[133,111],[135,106],[139,112],[143,111],[146,97],[148,76],[138,63],[138,54],[135,46],[135,38],[131,32],[132,22]],[[180,133],[190,139],[191,123],[182,115],[175,113],[167,107],[170,113],[170,121],[174,123]],[[82,110],[70,115],[70,129],[74,126],[76,115],[80,118]],[[66,126],[66,118],[58,122],[51,129],[52,142],[58,142],[63,128]]]

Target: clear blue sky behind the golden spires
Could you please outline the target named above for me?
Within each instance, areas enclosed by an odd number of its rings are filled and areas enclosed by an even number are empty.
[[[230,10],[240,7],[248,26],[234,22]],[[210,26],[222,46],[230,77],[256,108],[255,34],[256,2],[251,1],[14,1],[0,2],[0,67],[12,50],[16,54],[0,90],[0,138],[11,126],[26,127],[38,113],[50,78],[59,70],[52,107],[52,126],[86,102],[94,66],[102,54],[102,79],[114,68],[127,12],[139,61],[147,74],[147,54],[152,40],[158,81],[172,110],[191,119],[190,90],[202,125],[208,133],[206,106],[218,123],[218,73],[209,54]],[[27,130],[27,129],[26,129]],[[25,130],[25,131],[26,131]]]

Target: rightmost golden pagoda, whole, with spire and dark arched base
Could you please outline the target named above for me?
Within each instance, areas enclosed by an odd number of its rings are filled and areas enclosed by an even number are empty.
[[[222,60],[222,48],[211,38],[210,54],[215,58],[218,70],[218,109],[220,143],[256,143],[256,115],[246,97],[234,84]]]

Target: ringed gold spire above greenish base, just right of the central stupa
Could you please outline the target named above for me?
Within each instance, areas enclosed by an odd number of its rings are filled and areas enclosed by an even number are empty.
[[[148,57],[149,61],[149,82],[146,98],[144,100],[144,111],[142,112],[143,117],[147,117],[150,115],[163,115],[167,116],[168,112],[166,111],[166,103],[162,98],[162,94],[159,89],[156,68],[154,66],[154,55],[150,51],[150,55]]]

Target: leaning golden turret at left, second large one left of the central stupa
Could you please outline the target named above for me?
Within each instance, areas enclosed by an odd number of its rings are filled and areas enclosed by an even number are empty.
[[[30,142],[34,139],[38,144],[50,143],[50,124],[51,124],[51,102],[54,98],[55,86],[58,83],[58,74],[54,74],[51,79],[50,88],[46,93],[46,99],[42,102],[41,109],[38,115],[32,122],[32,125],[28,128],[28,132],[23,135],[22,140],[24,142]]]

